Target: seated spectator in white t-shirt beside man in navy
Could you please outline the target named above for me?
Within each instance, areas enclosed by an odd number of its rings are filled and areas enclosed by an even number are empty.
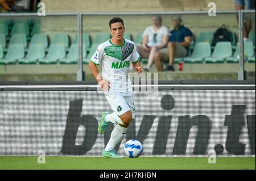
[[[142,58],[148,58],[148,63],[144,70],[150,71],[154,63],[154,54],[167,46],[168,37],[168,28],[162,26],[162,18],[154,16],[152,18],[152,26],[147,27],[143,32],[142,47],[137,46],[139,55]]]

